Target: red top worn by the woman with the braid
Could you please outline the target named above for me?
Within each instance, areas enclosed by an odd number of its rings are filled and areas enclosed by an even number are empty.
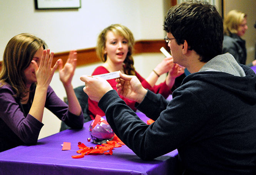
[[[105,73],[109,73],[109,71],[106,68],[104,68],[103,66],[99,66],[94,70],[92,75],[99,75],[99,74],[105,74]],[[141,84],[144,88],[149,89],[150,91],[152,91],[156,94],[158,94],[158,93],[162,94],[162,96],[167,98],[172,93],[171,89],[166,85],[165,82],[163,82],[159,85],[155,85],[154,87],[151,87],[150,84],[147,83],[147,81],[136,71],[135,71],[135,75],[139,79],[139,81],[141,82]],[[107,81],[109,82],[109,84],[112,86],[113,89],[117,90],[117,88],[116,88],[117,82],[115,81],[115,79],[109,79]],[[133,111],[136,111],[136,108],[134,107],[135,101],[131,101],[131,100],[129,100],[123,96],[120,96],[120,95],[119,95],[119,97],[121,99],[123,99],[125,101],[125,103],[127,104],[127,106],[131,107],[131,109]],[[105,113],[99,108],[98,102],[92,101],[90,98],[88,98],[88,108],[89,108],[89,115],[92,120],[94,120],[94,118],[97,114],[100,116],[105,116]]]

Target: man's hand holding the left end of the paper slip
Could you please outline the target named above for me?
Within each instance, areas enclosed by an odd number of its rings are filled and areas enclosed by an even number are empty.
[[[105,79],[100,77],[93,78],[92,76],[82,75],[80,80],[85,82],[84,92],[93,101],[99,102],[105,93],[113,89]]]

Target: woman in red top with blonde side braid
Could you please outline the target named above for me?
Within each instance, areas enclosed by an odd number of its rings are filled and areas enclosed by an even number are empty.
[[[155,93],[162,94],[167,98],[174,89],[175,78],[184,73],[184,68],[178,64],[174,64],[172,58],[165,58],[159,63],[156,68],[144,79],[135,70],[132,58],[134,46],[134,36],[132,32],[123,25],[113,24],[102,30],[97,39],[96,53],[97,56],[104,62],[102,66],[97,67],[92,75],[121,71],[127,75],[135,75],[141,81],[142,86],[150,89]],[[166,80],[155,85],[159,76],[167,73]],[[109,84],[116,89],[115,79],[108,80]],[[173,88],[173,89],[172,89]],[[134,107],[135,101],[126,99],[120,96],[126,104],[136,111]],[[89,115],[92,119],[98,114],[105,116],[105,113],[99,108],[98,102],[88,99]]]

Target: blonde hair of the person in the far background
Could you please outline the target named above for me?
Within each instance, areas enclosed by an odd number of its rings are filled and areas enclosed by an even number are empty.
[[[230,36],[231,33],[238,33],[238,27],[246,17],[246,13],[238,10],[229,11],[223,21],[224,34]]]

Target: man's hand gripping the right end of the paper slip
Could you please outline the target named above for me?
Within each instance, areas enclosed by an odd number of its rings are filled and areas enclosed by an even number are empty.
[[[116,82],[118,83],[116,86],[118,94],[138,103],[142,102],[147,93],[136,76],[120,73],[120,78],[117,78]]]

